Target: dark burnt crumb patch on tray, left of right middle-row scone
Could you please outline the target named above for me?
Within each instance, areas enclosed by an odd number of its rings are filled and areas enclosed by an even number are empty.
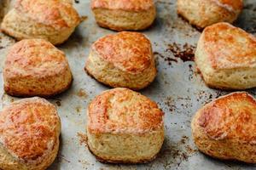
[[[169,44],[166,51],[171,51],[175,58],[182,59],[183,62],[195,60],[195,46],[185,43],[183,46],[176,42]]]

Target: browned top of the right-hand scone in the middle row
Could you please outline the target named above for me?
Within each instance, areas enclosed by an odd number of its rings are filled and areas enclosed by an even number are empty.
[[[228,23],[208,26],[201,39],[214,69],[256,67],[256,37]]]

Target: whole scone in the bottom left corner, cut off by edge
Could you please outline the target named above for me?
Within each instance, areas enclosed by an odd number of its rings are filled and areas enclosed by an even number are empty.
[[[61,121],[54,105],[20,99],[0,111],[0,169],[44,170],[59,150]]]

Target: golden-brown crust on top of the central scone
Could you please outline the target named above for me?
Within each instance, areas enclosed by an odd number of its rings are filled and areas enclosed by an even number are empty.
[[[122,71],[143,72],[153,58],[151,43],[142,33],[123,31],[97,40],[92,50]]]

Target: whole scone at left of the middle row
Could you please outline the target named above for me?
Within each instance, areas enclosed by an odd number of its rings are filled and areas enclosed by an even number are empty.
[[[51,97],[70,87],[65,54],[42,39],[27,39],[9,49],[3,66],[4,90],[13,96]]]

